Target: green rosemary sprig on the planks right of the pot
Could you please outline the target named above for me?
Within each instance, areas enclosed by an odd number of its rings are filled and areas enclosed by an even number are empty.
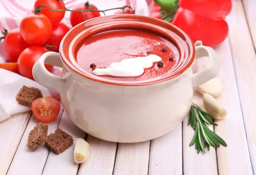
[[[214,148],[220,146],[220,144],[227,146],[227,143],[221,137],[207,127],[207,125],[218,126],[212,119],[214,118],[207,112],[204,112],[199,106],[191,106],[189,124],[195,130],[195,134],[189,146],[195,144],[195,149],[198,150],[198,153],[200,151],[205,153],[205,147],[209,151],[210,146]]]

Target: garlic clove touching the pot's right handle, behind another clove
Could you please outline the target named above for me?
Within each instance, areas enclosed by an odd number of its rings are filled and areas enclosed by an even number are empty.
[[[218,78],[213,78],[196,88],[201,94],[207,93],[212,97],[218,97],[224,91],[224,83]]]

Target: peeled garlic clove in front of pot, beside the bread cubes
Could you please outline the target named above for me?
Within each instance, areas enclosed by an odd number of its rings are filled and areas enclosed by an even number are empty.
[[[76,139],[75,149],[74,149],[74,161],[77,164],[84,163],[84,161],[89,160],[91,153],[90,145],[82,138]]]

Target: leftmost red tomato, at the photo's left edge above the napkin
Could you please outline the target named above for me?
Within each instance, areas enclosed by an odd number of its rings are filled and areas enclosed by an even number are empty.
[[[7,62],[17,62],[20,53],[29,47],[29,44],[20,35],[20,29],[10,30],[3,41],[3,54]]]

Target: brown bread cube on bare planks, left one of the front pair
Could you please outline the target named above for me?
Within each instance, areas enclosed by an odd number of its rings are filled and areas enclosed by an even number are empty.
[[[38,123],[34,129],[29,132],[28,148],[30,151],[34,152],[40,146],[47,141],[48,125],[43,123]]]

